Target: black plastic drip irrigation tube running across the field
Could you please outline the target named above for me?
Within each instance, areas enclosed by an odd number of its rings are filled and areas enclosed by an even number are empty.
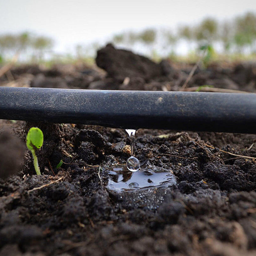
[[[0,87],[0,119],[255,133],[256,94]]]

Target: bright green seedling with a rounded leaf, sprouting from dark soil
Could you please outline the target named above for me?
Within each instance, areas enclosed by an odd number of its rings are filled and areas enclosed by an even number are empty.
[[[38,166],[36,150],[38,150],[42,147],[43,142],[44,142],[43,132],[37,127],[30,128],[28,131],[28,135],[27,135],[27,147],[32,153],[32,156],[34,159],[34,166],[35,166],[37,175],[41,175],[41,172],[40,172],[40,169]]]

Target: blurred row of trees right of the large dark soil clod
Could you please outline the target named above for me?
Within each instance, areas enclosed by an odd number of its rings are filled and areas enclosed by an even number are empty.
[[[248,12],[222,22],[208,17],[196,25],[180,26],[176,31],[148,28],[138,33],[123,32],[114,35],[112,42],[126,48],[134,44],[140,44],[141,48],[150,45],[151,56],[156,57],[159,52],[160,57],[172,58],[177,55],[177,45],[185,42],[190,57],[192,50],[195,56],[205,50],[204,63],[220,55],[230,58],[251,56],[256,54],[256,14]]]

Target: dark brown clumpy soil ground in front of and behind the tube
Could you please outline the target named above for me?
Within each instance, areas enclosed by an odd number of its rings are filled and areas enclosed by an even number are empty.
[[[0,83],[178,91],[193,67],[156,64],[112,45],[96,63],[102,69],[14,67]],[[188,87],[204,84],[255,92],[256,65],[199,67]],[[41,176],[25,147],[32,126],[44,133]],[[145,169],[173,173],[176,183],[113,191],[109,170],[130,156],[124,130],[2,120],[0,131],[0,255],[256,255],[254,134],[140,129],[135,156]]]

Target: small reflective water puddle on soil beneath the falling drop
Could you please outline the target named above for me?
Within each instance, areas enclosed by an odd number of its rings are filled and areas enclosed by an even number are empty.
[[[157,172],[149,169],[130,172],[126,166],[121,165],[109,169],[108,172],[110,179],[107,188],[118,192],[176,184],[176,178],[170,172]]]

